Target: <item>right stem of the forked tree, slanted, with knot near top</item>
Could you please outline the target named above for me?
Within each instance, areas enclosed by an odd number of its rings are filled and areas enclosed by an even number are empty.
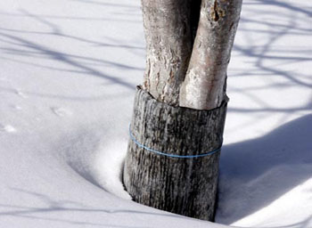
[[[242,0],[202,0],[193,53],[180,90],[180,106],[209,110],[223,102],[241,7]]]

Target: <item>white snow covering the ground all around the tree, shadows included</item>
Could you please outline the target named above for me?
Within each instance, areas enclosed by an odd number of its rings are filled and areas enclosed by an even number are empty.
[[[212,224],[120,182],[140,2],[0,1],[0,227],[312,227],[311,6],[243,3]]]

